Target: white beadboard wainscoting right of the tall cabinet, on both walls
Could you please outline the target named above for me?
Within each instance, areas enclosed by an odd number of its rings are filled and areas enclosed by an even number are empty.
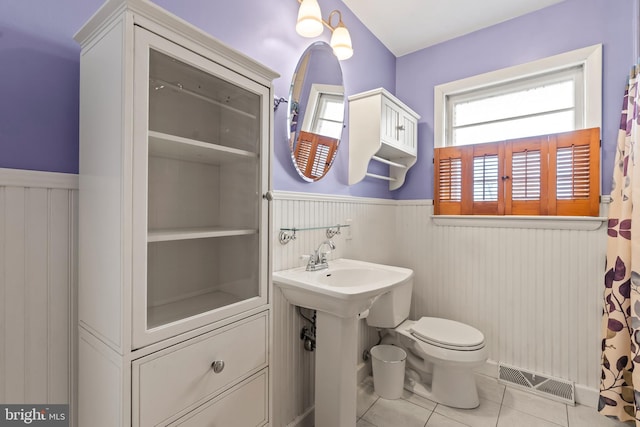
[[[594,230],[548,221],[537,228],[442,226],[431,218],[431,201],[285,192],[275,193],[273,213],[274,271],[304,265],[300,255],[326,239],[324,230],[299,231],[281,245],[280,227],[351,219],[351,239],[347,230],[335,237],[330,260],[412,268],[412,317],[446,317],[482,330],[489,346],[486,373],[497,376],[495,364],[503,362],[571,380],[578,401],[596,405],[606,253],[601,222],[593,222]],[[299,339],[305,321],[277,287],[273,301],[274,426],[312,425],[314,353]],[[377,341],[374,330],[364,321],[361,326],[359,355]]]

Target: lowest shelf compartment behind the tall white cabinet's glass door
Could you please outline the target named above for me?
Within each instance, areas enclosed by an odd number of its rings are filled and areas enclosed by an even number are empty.
[[[149,329],[256,297],[258,235],[150,242]]]

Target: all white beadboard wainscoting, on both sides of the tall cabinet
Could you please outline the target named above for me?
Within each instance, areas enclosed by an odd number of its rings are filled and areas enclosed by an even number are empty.
[[[73,401],[77,198],[74,175],[0,169],[1,402]],[[575,381],[581,403],[595,405],[606,227],[442,226],[431,214],[429,201],[275,192],[273,269],[304,265],[300,256],[326,239],[324,230],[298,231],[281,245],[280,227],[351,220],[330,260],[412,268],[412,316],[469,323],[484,332],[491,361]],[[311,425],[306,321],[277,288],[272,302],[274,426]],[[377,341],[361,325],[358,355]]]

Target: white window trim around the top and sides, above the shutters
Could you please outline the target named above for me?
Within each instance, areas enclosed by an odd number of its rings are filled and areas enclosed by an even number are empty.
[[[449,146],[446,132],[449,117],[447,112],[448,97],[488,87],[507,86],[523,78],[535,78],[573,67],[581,67],[583,72],[583,128],[601,127],[602,44],[597,44],[435,86],[434,147]]]

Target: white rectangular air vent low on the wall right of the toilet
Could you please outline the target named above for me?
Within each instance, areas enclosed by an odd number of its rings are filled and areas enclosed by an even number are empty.
[[[575,386],[571,381],[540,375],[509,365],[498,365],[501,383],[528,390],[540,396],[575,405]]]

